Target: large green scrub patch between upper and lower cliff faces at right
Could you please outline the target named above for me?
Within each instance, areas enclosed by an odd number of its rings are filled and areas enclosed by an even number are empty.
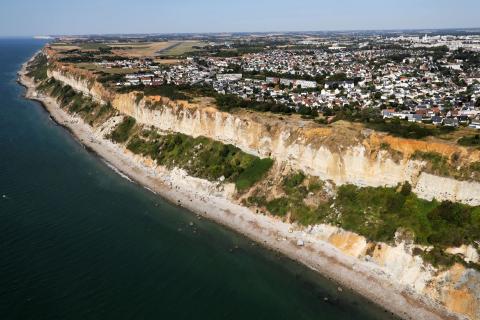
[[[284,195],[272,199],[268,190],[259,190],[246,204],[282,217],[290,214],[290,220],[302,225],[337,225],[372,241],[391,242],[399,229],[414,234],[416,243],[440,248],[475,244],[480,239],[480,207],[419,199],[408,183],[398,187],[342,185],[331,197],[317,194],[323,185],[312,179],[302,172],[293,173],[283,179]],[[308,203],[309,194],[323,200]]]

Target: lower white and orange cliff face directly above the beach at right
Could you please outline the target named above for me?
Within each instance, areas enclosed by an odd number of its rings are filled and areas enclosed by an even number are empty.
[[[372,244],[362,236],[329,225],[317,225],[310,233],[357,258],[360,264],[370,265],[377,270],[379,277],[387,278],[419,299],[427,298],[451,312],[469,319],[480,319],[479,272],[460,264],[448,270],[426,266],[422,258],[412,254],[413,245],[406,242],[399,241],[395,246]]]

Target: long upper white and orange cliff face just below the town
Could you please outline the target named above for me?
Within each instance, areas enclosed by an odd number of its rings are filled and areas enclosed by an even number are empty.
[[[150,108],[147,104],[154,103],[154,98],[138,99],[134,93],[112,94],[95,82],[65,71],[51,71],[49,75],[99,101],[111,101],[114,108],[139,123],[231,143],[336,184],[394,186],[409,181],[422,198],[480,205],[480,183],[422,172],[424,163],[409,159],[415,150],[434,150],[446,155],[456,152],[465,161],[474,161],[480,157],[478,152],[434,142],[399,141],[369,130],[349,132],[344,128],[318,128],[300,123],[302,127],[277,117],[261,119],[252,113],[226,113],[187,102]],[[380,150],[382,143],[401,150],[400,158],[394,159],[389,152]]]

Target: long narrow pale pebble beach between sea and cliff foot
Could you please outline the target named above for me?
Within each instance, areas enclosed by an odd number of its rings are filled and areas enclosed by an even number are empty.
[[[54,99],[39,95],[32,79],[26,76],[25,67],[26,64],[19,72],[19,83],[26,88],[25,97],[40,102],[52,120],[66,128],[88,151],[144,188],[302,263],[401,318],[459,318],[395,285],[373,263],[347,256],[333,245],[316,239],[294,225],[255,214],[250,209],[231,202],[224,191],[214,190],[213,183],[188,177],[181,170],[167,171],[152,167],[142,161],[144,159],[141,157],[126,151],[123,146],[103,138],[101,132],[96,132],[82,119],[62,110]],[[298,240],[304,245],[299,246]]]

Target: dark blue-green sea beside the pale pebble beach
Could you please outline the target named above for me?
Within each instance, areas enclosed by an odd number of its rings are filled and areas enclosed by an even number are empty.
[[[42,45],[0,39],[0,319],[391,319],[115,174],[22,98]]]

